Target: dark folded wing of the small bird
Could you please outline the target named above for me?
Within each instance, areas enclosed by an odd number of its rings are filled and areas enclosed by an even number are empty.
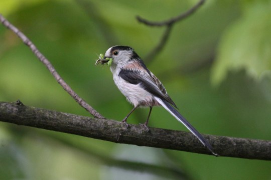
[[[177,108],[176,104],[168,95],[162,82],[151,71],[139,72],[131,69],[121,69],[118,75],[132,84],[141,83],[141,86],[145,90],[161,99],[166,100]]]

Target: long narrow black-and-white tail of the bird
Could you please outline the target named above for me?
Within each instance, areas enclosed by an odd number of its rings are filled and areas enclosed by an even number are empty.
[[[200,140],[200,142],[204,146],[206,146],[215,156],[218,156],[218,154],[214,153],[214,151],[212,150],[213,147],[211,146],[211,144],[209,144],[209,142],[174,107],[172,107],[169,102],[159,97],[155,97],[155,99],[177,120],[182,122],[186,126],[186,128],[188,128]]]

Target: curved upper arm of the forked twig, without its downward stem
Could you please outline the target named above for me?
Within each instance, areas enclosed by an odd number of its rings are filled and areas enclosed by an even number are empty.
[[[172,17],[168,20],[164,20],[164,21],[150,21],[147,20],[145,18],[142,18],[140,16],[137,16],[137,19],[146,24],[146,25],[150,25],[150,26],[164,26],[164,25],[171,25],[177,21],[180,21],[182,19],[184,19],[185,17],[191,15],[193,12],[195,12],[203,3],[205,2],[205,0],[200,0],[196,5],[194,5],[192,8],[190,8],[189,10],[187,10],[184,13],[181,13],[180,15],[176,16],[176,17]]]

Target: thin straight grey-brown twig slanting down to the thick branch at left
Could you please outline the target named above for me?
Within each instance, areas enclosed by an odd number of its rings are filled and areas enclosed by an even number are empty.
[[[29,46],[32,52],[39,58],[39,60],[48,68],[51,74],[55,77],[57,82],[78,102],[82,107],[84,107],[89,113],[94,117],[104,118],[99,112],[97,112],[93,107],[91,107],[86,101],[84,101],[72,88],[64,81],[64,79],[58,74],[51,62],[39,51],[35,44],[17,27],[10,23],[2,14],[0,14],[0,21],[4,26],[11,29],[14,33],[18,35],[22,41]]]

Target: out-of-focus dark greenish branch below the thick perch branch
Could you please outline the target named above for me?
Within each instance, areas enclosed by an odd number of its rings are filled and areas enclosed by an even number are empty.
[[[58,135],[55,133],[48,133],[46,131],[38,131],[38,130],[29,130],[28,128],[20,128],[19,126],[8,126],[8,130],[11,133],[16,134],[17,136],[23,137],[35,136],[36,133],[39,133],[39,138],[48,139],[55,143],[60,143],[69,148],[74,148],[76,152],[80,151],[84,153],[84,155],[94,158],[95,161],[100,162],[102,164],[111,166],[111,167],[119,167],[122,169],[139,171],[139,172],[148,172],[151,174],[156,174],[158,176],[162,176],[164,178],[169,178],[169,173],[175,177],[175,179],[192,179],[189,174],[187,174],[180,167],[176,167],[169,163],[157,164],[157,163],[149,163],[149,162],[140,162],[133,161],[127,159],[121,159],[118,157],[112,157],[112,155],[108,155],[106,153],[102,153],[101,151],[97,151],[89,146],[86,146],[83,143],[77,143],[77,141],[70,140],[70,138],[66,138],[63,135]],[[0,141],[1,142],[1,141]],[[1,144],[0,144],[1,147]],[[1,149],[1,148],[0,148]]]

